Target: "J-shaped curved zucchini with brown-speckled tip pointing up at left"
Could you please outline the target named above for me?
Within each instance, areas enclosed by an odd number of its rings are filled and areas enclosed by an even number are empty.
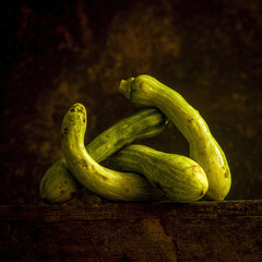
[[[68,167],[75,179],[90,191],[111,201],[159,200],[159,193],[142,176],[120,172],[100,166],[84,146],[86,110],[74,104],[66,114],[61,127],[61,146]]]

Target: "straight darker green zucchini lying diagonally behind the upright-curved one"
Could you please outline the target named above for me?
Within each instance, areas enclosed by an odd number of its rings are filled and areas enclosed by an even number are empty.
[[[166,117],[155,108],[146,108],[129,116],[95,138],[86,150],[94,160],[100,163],[122,146],[138,139],[146,139],[162,132]],[[56,162],[44,175],[39,192],[49,204],[62,204],[75,196],[81,184],[72,176],[64,158]]]

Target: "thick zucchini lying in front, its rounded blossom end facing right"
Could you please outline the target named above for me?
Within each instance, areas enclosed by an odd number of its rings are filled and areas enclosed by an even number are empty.
[[[202,167],[189,157],[145,145],[127,145],[105,160],[111,168],[142,174],[163,194],[177,203],[203,198],[209,181]]]

